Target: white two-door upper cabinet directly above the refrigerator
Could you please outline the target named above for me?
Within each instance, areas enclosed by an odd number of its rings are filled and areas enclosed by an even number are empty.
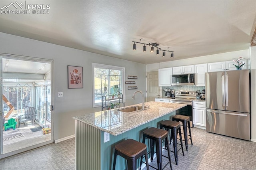
[[[243,59],[242,62],[245,63],[242,66],[242,69],[248,69],[247,68],[247,59]],[[233,64],[235,64],[235,62],[233,60],[208,63],[207,64],[207,72],[236,70],[236,66],[234,66]]]

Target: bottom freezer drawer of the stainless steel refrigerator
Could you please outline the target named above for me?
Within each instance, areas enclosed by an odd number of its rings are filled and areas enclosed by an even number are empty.
[[[250,140],[250,114],[206,109],[206,131]]]

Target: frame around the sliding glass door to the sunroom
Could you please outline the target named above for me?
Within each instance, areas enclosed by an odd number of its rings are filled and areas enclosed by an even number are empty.
[[[0,53],[0,123],[2,123],[2,58],[8,58],[8,59],[17,59],[17,60],[24,60],[24,61],[34,61],[34,62],[45,62],[45,63],[50,63],[51,64],[51,105],[54,106],[54,60],[53,59],[42,59],[42,58],[36,58],[36,57],[28,57],[28,56],[22,56],[22,55],[10,55],[10,54],[5,54],[5,53]],[[0,124],[2,125],[2,124]],[[51,140],[48,140],[46,142],[42,142],[39,144],[35,144],[32,146],[28,146],[26,148],[22,148],[19,150],[14,150],[5,154],[3,153],[3,130],[0,130],[0,159],[6,158],[8,156],[12,156],[15,154],[19,154],[34,148],[38,148],[47,144],[51,144],[54,142],[54,109],[51,111]]]

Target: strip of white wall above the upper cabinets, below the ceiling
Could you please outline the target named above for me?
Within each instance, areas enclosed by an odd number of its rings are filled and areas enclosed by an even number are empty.
[[[232,58],[238,58],[241,55],[243,56],[243,58],[250,58],[249,50],[246,49],[246,50],[240,50],[240,51],[232,51],[228,53],[205,55],[205,56],[194,57],[189,59],[180,59],[180,60],[167,61],[162,63],[148,64],[147,71],[158,71],[158,69],[160,68],[176,67],[176,66],[182,66],[182,65],[212,63],[217,61],[228,61],[228,60],[232,60]]]

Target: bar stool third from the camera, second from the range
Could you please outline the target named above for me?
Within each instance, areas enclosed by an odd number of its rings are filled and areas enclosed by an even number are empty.
[[[180,123],[176,122],[176,121],[162,121],[160,123],[160,129],[165,128],[165,130],[167,130],[167,132],[169,132],[169,129],[171,129],[171,137],[170,137],[170,143],[172,141],[173,143],[173,149],[174,149],[174,158],[175,158],[175,162],[176,165],[178,165],[178,152],[181,149],[182,150],[182,154],[183,156],[184,154],[184,150],[183,150],[183,144],[182,144],[182,135],[181,135],[181,128],[180,128]],[[177,150],[178,148],[178,142],[177,142],[177,135],[180,135],[180,148],[179,150]],[[165,145],[168,145],[168,143],[166,143]]]

